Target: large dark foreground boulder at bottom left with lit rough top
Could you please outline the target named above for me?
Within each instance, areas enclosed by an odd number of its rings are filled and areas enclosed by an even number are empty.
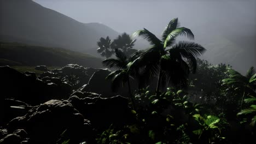
[[[56,143],[63,131],[64,139],[70,139],[71,143],[94,139],[90,122],[68,101],[50,100],[34,106],[25,116],[14,118],[7,126],[8,130],[25,129],[30,143]]]

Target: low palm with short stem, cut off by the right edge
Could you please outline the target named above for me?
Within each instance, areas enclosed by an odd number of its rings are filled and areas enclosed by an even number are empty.
[[[241,75],[240,73],[231,68],[228,70],[228,73],[229,78],[222,80],[223,84],[234,88],[237,93],[243,93],[240,105],[242,109],[243,99],[245,98],[245,96],[255,93],[256,72],[254,68],[251,67],[249,68],[245,76]]]

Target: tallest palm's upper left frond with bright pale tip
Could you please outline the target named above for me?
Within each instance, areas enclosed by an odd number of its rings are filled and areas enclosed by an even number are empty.
[[[149,41],[151,45],[155,47],[161,47],[162,42],[159,40],[153,33],[149,32],[148,29],[144,28],[142,30],[136,31],[133,34],[133,37],[139,36]]]

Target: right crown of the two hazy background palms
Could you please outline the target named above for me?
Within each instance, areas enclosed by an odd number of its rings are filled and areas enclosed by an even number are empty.
[[[132,40],[129,34],[123,33],[118,35],[117,39],[113,41],[113,48],[114,49],[121,49],[127,57],[130,57],[133,53],[137,50],[133,49],[135,40]]]

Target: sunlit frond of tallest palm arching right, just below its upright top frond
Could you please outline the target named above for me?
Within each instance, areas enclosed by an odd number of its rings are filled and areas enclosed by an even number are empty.
[[[187,36],[189,39],[194,39],[194,34],[191,32],[190,29],[185,27],[176,28],[172,32],[170,32],[166,37],[164,41],[164,48],[167,47],[167,44],[171,40],[175,39],[178,35],[184,35],[184,36]]]

